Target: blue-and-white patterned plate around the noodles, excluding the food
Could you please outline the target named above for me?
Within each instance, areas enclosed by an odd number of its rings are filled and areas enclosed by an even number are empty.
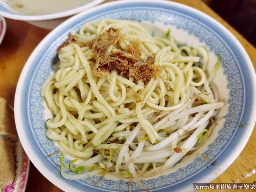
[[[56,49],[73,29],[85,22],[111,18],[140,22],[152,36],[163,36],[168,28],[178,44],[205,46],[209,51],[212,71],[220,53],[221,67],[214,83],[225,101],[211,137],[194,154],[184,157],[170,169],[141,183],[152,191],[191,191],[193,183],[209,183],[224,172],[244,148],[252,132],[256,116],[255,72],[244,48],[220,23],[185,5],[167,1],[118,1],[103,4],[78,14],[53,30],[37,46],[20,76],[15,95],[15,120],[21,143],[36,168],[59,188],[74,191],[129,191],[128,181],[107,174],[98,185],[91,179],[65,180],[60,175],[59,155],[45,156],[58,150],[46,138],[46,119],[51,117],[40,91],[44,81],[53,73],[57,62]],[[65,158],[68,164],[70,159]],[[215,165],[211,165],[212,163]],[[94,177],[98,180],[100,177]],[[132,182],[132,191],[144,191]]]

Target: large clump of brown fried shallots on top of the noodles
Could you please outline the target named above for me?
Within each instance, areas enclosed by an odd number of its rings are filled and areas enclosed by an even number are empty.
[[[141,42],[139,40],[131,41],[126,50],[121,48],[119,41],[125,42],[125,35],[118,29],[110,28],[88,42],[78,41],[76,36],[68,36],[66,42],[60,45],[57,52],[60,53],[62,47],[73,43],[80,47],[90,46],[94,52],[92,59],[96,68],[96,71],[92,71],[94,77],[104,77],[112,70],[116,70],[118,75],[127,79],[134,76],[136,82],[139,80],[146,82],[152,77],[160,77],[160,67],[154,66],[155,57],[153,55],[148,55],[147,60],[140,58]]]

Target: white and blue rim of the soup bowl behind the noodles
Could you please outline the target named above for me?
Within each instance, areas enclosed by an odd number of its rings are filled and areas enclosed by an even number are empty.
[[[67,16],[71,16],[71,15],[83,12],[83,11],[88,10],[104,1],[106,1],[106,0],[92,0],[92,2],[82,5],[80,7],[77,7],[77,8],[68,10],[68,11],[52,13],[52,14],[47,14],[47,15],[20,15],[15,12],[12,12],[11,8],[10,8],[10,10],[6,9],[3,5],[0,4],[0,15],[3,15],[4,17],[9,18],[9,19],[22,20],[22,21],[52,20],[52,19],[59,19],[62,17],[67,17]]]

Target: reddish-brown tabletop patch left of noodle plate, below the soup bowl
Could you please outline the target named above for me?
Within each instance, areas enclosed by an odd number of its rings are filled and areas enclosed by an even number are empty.
[[[0,97],[12,106],[20,73],[36,45],[50,32],[24,21],[6,19],[7,30],[0,45]]]

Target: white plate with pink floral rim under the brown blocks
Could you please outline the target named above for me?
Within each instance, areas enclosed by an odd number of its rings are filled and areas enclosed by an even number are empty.
[[[15,143],[14,156],[16,159],[15,179],[11,185],[0,189],[0,192],[25,192],[28,181],[30,160],[22,148],[20,140]]]

